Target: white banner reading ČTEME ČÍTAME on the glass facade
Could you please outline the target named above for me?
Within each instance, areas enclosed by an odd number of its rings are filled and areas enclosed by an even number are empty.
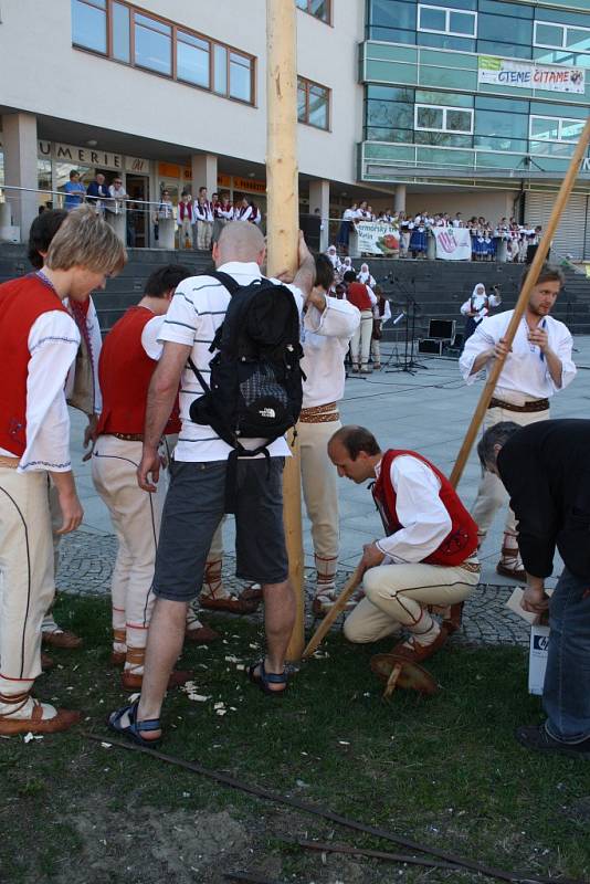
[[[549,67],[530,62],[515,62],[480,55],[477,82],[494,86],[516,86],[524,90],[547,92],[572,92],[583,95],[586,91],[582,67]]]

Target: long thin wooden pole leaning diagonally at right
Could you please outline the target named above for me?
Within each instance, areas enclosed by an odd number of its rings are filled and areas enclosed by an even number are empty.
[[[541,241],[537,248],[537,253],[535,254],[527,278],[518,296],[518,301],[514,308],[514,315],[510,319],[508,328],[506,329],[504,340],[508,349],[512,346],[514,336],[516,335],[516,332],[525,313],[526,306],[528,304],[530,293],[537,283],[540,270],[542,267],[545,259],[547,257],[547,253],[549,252],[551,240],[554,238],[557,225],[559,224],[559,219],[561,218],[561,213],[566,208],[566,203],[573,188],[573,183],[578,176],[580,164],[583,159],[583,155],[586,152],[589,143],[590,143],[590,117],[586,122],[586,126],[583,127],[582,134],[580,135],[580,139],[576,146],[576,150],[573,151],[571,162],[569,165],[568,171],[566,172],[566,177],[563,178],[563,181],[559,189],[559,193],[557,194],[557,199],[555,201],[554,209],[549,217],[549,221],[547,222],[547,227],[542,234]],[[480,401],[477,402],[475,413],[472,418],[472,421],[465,434],[465,439],[463,440],[463,444],[459,451],[455,465],[453,466],[453,472],[451,473],[451,484],[455,488],[459,485],[461,476],[463,475],[463,470],[465,469],[465,464],[473,448],[473,443],[475,442],[477,432],[480,430],[482,421],[484,420],[485,412],[487,411],[487,407],[489,406],[489,401],[494,394],[494,389],[496,387],[502,368],[504,366],[504,359],[505,357],[494,359],[492,369],[489,371],[489,377],[487,378],[486,385],[482,391],[482,396],[480,397]]]

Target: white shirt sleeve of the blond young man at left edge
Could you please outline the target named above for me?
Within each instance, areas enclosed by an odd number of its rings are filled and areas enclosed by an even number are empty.
[[[64,382],[80,347],[80,332],[69,313],[41,314],[29,332],[31,358],[27,377],[27,448],[19,473],[49,470],[65,473],[70,460],[70,414]],[[4,457],[15,455],[0,449]]]

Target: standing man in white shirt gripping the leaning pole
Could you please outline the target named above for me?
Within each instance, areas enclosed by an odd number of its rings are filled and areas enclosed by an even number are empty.
[[[521,287],[528,272],[529,269],[523,275]],[[494,359],[505,360],[487,408],[484,420],[486,429],[499,421],[510,420],[525,427],[547,420],[550,397],[557,390],[565,389],[573,379],[576,366],[571,359],[571,335],[563,323],[549,315],[562,284],[563,274],[558,267],[548,264],[541,267],[509,350],[505,346],[504,336],[514,311],[486,317],[466,341],[460,359],[460,370],[468,385],[475,381],[482,369],[488,373]],[[497,476],[486,472],[472,511],[478,527],[480,544],[484,540],[496,511],[506,502],[507,495],[502,483]],[[496,570],[504,577],[526,579],[512,509],[506,518],[502,555]]]

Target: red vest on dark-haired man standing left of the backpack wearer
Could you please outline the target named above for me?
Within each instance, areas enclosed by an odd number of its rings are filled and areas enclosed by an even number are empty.
[[[158,362],[145,351],[141,333],[152,318],[145,307],[129,307],[104,340],[98,360],[103,411],[97,435],[144,432],[147,391]],[[164,432],[180,432],[178,398]]]

